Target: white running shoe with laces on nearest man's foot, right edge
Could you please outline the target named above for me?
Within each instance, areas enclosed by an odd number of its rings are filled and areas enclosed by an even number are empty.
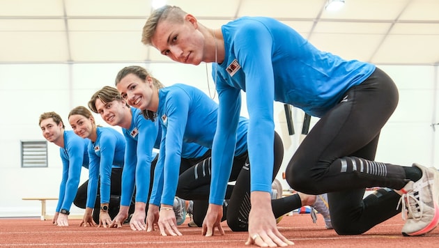
[[[399,204],[402,217],[406,219],[401,233],[404,236],[418,236],[429,233],[439,223],[439,171],[413,164],[422,171],[422,178],[410,181],[401,189]]]

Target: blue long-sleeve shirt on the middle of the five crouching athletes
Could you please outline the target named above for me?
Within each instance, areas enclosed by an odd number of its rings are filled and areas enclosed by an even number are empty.
[[[136,202],[147,202],[150,186],[153,148],[160,149],[162,128],[159,121],[146,120],[139,109],[131,107],[132,121],[129,129],[123,128],[126,139],[125,164],[122,172],[121,205],[130,206],[136,186]],[[200,157],[208,148],[198,144],[183,143],[183,158]]]

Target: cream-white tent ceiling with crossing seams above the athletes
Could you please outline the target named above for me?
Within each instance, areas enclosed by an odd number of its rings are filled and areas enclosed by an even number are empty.
[[[169,0],[217,28],[263,15],[316,47],[377,64],[439,63],[439,0]],[[168,62],[141,44],[151,0],[0,0],[0,63]]]

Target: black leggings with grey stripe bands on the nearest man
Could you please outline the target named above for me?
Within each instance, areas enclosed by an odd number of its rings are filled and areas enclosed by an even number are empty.
[[[367,187],[401,189],[402,166],[374,162],[380,130],[398,103],[398,90],[385,72],[375,72],[346,92],[298,147],[286,168],[288,184],[307,194],[328,193],[332,226],[339,234],[360,234],[401,212],[399,195]]]

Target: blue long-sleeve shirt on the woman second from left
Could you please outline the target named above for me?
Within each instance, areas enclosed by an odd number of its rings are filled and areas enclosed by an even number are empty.
[[[94,208],[100,178],[100,203],[109,203],[111,168],[123,168],[125,139],[111,127],[96,127],[95,142],[88,143],[88,188],[87,208]]]

